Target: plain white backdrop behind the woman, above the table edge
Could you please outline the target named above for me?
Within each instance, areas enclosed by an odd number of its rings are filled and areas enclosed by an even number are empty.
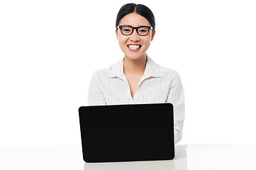
[[[0,145],[80,145],[91,75],[123,52],[131,1],[0,2]],[[180,144],[256,143],[256,2],[133,1],[155,14],[148,55],[175,69],[186,100]]]

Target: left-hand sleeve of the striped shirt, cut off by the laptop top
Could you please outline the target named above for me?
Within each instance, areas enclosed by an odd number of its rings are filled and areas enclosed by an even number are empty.
[[[106,101],[96,78],[97,74],[94,72],[89,85],[88,103],[89,106],[104,106]]]

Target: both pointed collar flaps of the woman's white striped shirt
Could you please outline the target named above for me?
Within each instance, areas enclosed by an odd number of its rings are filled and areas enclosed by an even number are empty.
[[[123,60],[124,57],[113,65],[112,69],[106,74],[106,77],[119,77],[123,79],[125,77],[123,73]],[[157,64],[147,55],[147,62],[143,77],[162,77],[160,69]]]

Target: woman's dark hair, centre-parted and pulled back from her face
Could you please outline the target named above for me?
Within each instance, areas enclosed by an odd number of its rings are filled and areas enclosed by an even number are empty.
[[[150,25],[152,26],[152,28],[155,30],[155,16],[150,10],[150,8],[148,8],[143,4],[134,4],[134,3],[124,4],[120,8],[116,16],[116,28],[120,23],[121,19],[129,13],[138,13],[140,16],[145,17],[150,23]]]

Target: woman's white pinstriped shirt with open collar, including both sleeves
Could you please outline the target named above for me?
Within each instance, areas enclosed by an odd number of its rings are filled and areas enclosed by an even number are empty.
[[[184,90],[179,74],[152,61],[147,55],[143,77],[133,97],[123,73],[123,59],[108,69],[96,70],[89,85],[89,106],[172,103],[174,106],[174,143],[182,139]]]

